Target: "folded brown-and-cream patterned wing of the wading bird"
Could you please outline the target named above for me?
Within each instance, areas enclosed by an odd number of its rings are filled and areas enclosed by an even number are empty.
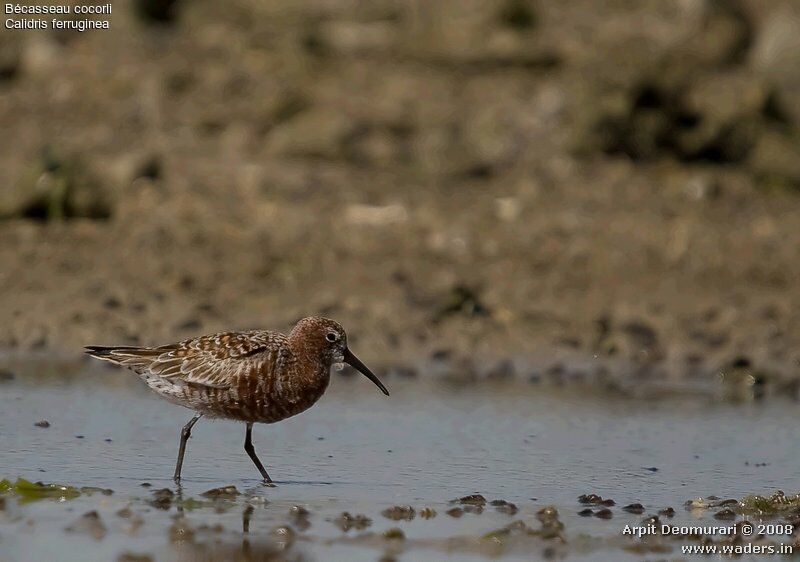
[[[105,356],[89,353],[174,382],[229,388],[241,377],[283,360],[286,349],[283,334],[250,331],[221,332],[154,348],[109,348]]]

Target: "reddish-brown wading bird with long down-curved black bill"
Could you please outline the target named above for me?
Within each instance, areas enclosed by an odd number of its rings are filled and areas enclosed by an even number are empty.
[[[221,332],[160,347],[90,346],[86,353],[128,367],[170,402],[198,412],[181,432],[176,480],[191,429],[206,415],[247,424],[245,450],[270,482],[252,447],[253,423],[275,423],[310,408],[328,387],[333,363],[351,364],[389,395],[350,352],[344,328],[317,316],[300,320],[288,336]]]

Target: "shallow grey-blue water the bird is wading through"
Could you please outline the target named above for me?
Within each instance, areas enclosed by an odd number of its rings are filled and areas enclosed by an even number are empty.
[[[242,450],[242,425],[201,420],[178,490],[170,476],[187,410],[159,400],[125,371],[69,377],[33,371],[0,382],[0,479],[113,493],[33,502],[7,494],[0,511],[3,562],[638,560],[644,554],[630,550],[635,542],[621,530],[648,514],[673,507],[671,523],[730,525],[713,518],[716,510],[690,512],[683,503],[800,488],[797,407],[790,402],[639,403],[578,387],[413,379],[388,380],[386,398],[365,379],[337,376],[310,411],[256,427],[256,449],[277,487],[259,484]],[[34,425],[42,419],[50,427]],[[241,494],[202,496],[220,486]],[[163,488],[175,495],[153,502],[154,490]],[[519,511],[487,504],[482,513],[446,513],[454,507],[450,500],[472,493],[513,502]],[[611,519],[578,515],[586,506],[577,498],[587,493],[615,500]],[[631,503],[645,512],[621,509]],[[382,515],[394,505],[410,505],[417,515],[410,521]],[[564,543],[486,536],[517,520],[539,529],[536,513],[547,505],[560,513]],[[294,506],[308,516],[293,515]],[[426,507],[437,515],[421,517]],[[82,518],[92,511],[96,518]],[[342,512],[371,524],[343,531]],[[405,538],[386,538],[393,528]],[[680,543],[665,544],[680,556]]]

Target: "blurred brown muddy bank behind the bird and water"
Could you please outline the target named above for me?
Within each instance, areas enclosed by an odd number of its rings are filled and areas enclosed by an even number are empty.
[[[797,391],[800,2],[113,9],[0,35],[0,347],[324,314],[389,371]]]

